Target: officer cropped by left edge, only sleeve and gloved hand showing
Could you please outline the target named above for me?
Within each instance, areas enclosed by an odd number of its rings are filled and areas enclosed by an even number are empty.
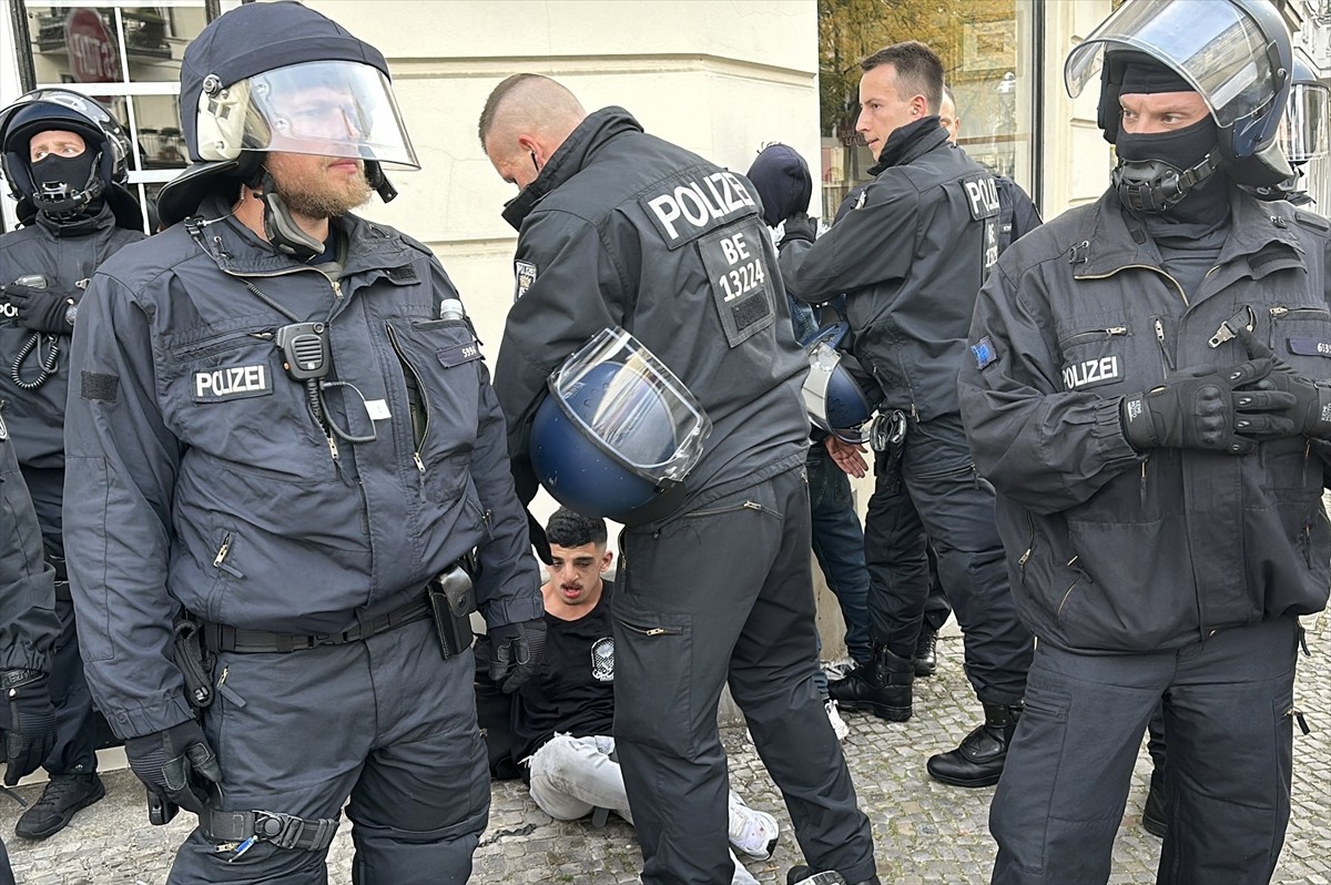
[[[13,438],[0,407],[0,741],[5,787],[37,769],[56,743],[51,704],[51,652],[60,636],[55,570],[45,562],[41,530],[19,472]],[[13,870],[0,841],[0,885]]]

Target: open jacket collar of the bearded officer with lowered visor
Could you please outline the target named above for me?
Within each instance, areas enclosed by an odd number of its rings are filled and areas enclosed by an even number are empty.
[[[217,266],[226,273],[273,277],[311,269],[303,261],[278,252],[237,221],[230,202],[220,196],[205,198],[197,214],[206,220],[201,236],[204,246]],[[341,228],[347,237],[345,277],[365,270],[399,267],[419,256],[395,232],[359,216],[347,213],[331,224]]]

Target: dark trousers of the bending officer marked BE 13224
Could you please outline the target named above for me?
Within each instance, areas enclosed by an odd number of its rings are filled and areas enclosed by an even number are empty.
[[[804,471],[620,534],[614,599],[615,743],[644,885],[732,877],[716,728],[727,681],[809,864],[874,874],[868,818],[813,685]]]

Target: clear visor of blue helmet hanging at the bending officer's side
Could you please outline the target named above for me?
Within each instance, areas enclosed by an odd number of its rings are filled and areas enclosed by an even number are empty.
[[[639,475],[681,482],[712,422],[673,373],[623,329],[604,329],[550,375],[564,413]]]

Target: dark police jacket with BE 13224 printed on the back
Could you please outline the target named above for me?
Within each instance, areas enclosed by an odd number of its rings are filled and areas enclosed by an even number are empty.
[[[803,463],[808,362],[755,193],[743,176],[646,134],[623,108],[588,114],[523,192],[518,298],[495,390],[528,494],[527,435],[546,378],[614,326],[656,354],[712,421],[676,514]]]

